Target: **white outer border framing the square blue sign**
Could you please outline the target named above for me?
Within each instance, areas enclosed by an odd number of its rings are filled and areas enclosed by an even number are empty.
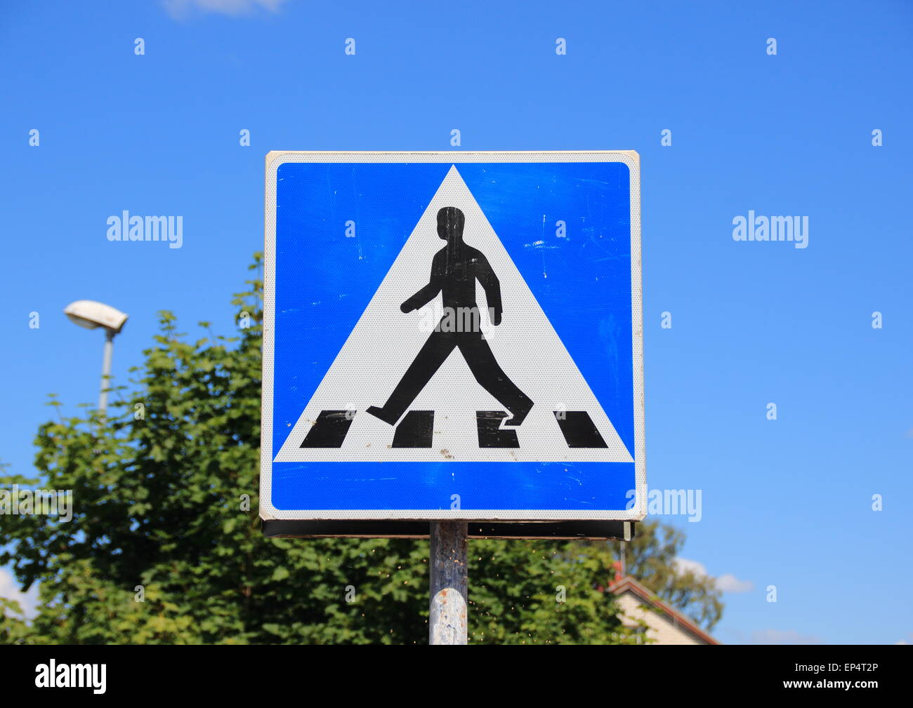
[[[277,509],[272,505],[273,335],[276,298],[276,183],[286,162],[624,162],[630,172],[631,335],[634,368],[635,505],[631,509]],[[635,151],[270,151],[266,157],[263,273],[263,375],[260,419],[260,518],[386,521],[639,521],[646,515],[644,318],[640,229],[640,155]],[[264,451],[267,451],[265,454]],[[456,464],[456,463],[455,463]]]

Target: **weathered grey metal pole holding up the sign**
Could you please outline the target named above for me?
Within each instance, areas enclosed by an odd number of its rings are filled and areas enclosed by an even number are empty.
[[[465,521],[431,522],[429,644],[467,643],[467,533]]]

